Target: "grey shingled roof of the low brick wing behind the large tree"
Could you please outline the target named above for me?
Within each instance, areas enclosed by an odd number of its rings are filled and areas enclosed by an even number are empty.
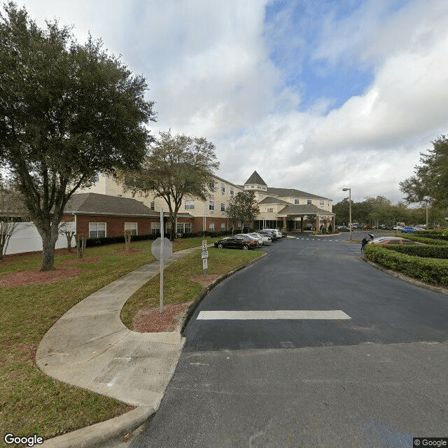
[[[160,216],[157,211],[129,197],[78,193],[65,207],[66,214],[114,215],[114,216]]]

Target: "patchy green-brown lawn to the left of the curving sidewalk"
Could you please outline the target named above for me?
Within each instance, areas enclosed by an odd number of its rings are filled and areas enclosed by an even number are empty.
[[[201,238],[179,239],[174,251],[200,246]],[[209,242],[214,239],[208,239]],[[0,313],[0,433],[17,436],[55,435],[111,419],[131,409],[128,405],[90,391],[55,381],[35,363],[36,349],[52,325],[73,305],[103,286],[152,262],[152,241],[87,248],[78,260],[76,251],[57,251],[57,272],[74,276],[25,286],[1,286]],[[6,255],[0,262],[0,281],[8,276],[37,274],[40,253]],[[13,283],[11,283],[13,284]],[[3,437],[0,442],[3,446]]]

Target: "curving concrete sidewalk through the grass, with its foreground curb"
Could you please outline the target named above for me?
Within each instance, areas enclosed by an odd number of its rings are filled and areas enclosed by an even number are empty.
[[[173,253],[165,262],[200,248]],[[155,412],[185,338],[179,332],[139,333],[120,320],[127,299],[158,274],[160,262],[135,269],[69,309],[38,346],[36,364],[50,377],[130,405],[132,412],[44,442],[42,447],[92,447],[131,432]]]

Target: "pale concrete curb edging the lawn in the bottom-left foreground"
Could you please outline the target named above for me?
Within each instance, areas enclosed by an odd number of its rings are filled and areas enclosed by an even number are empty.
[[[115,419],[102,421],[92,426],[80,428],[72,433],[48,439],[40,446],[43,448],[104,447],[106,442],[123,437],[127,433],[132,433],[156,410],[153,407],[137,407],[126,414],[115,417]]]

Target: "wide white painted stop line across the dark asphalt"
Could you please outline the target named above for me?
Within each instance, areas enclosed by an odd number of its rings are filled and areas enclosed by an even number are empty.
[[[246,320],[261,320],[261,319],[350,319],[351,317],[341,311],[340,309],[333,309],[328,311],[314,311],[311,309],[297,310],[297,309],[272,309],[265,311],[200,311],[197,319],[202,321],[246,321]]]

